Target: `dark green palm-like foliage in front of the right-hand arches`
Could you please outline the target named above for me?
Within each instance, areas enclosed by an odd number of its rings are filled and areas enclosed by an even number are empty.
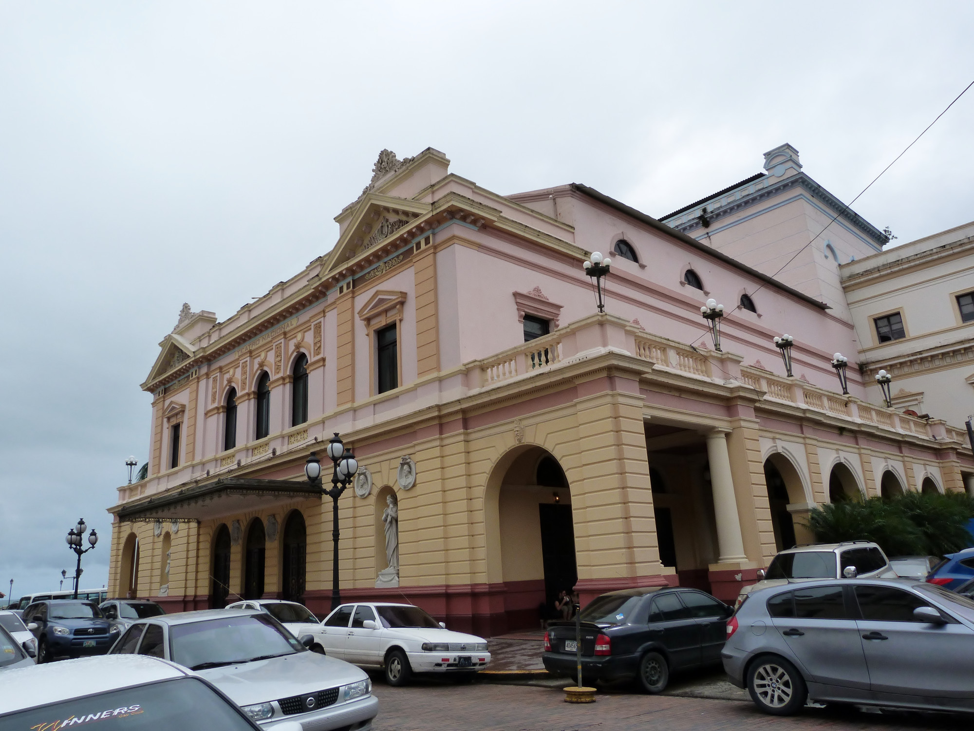
[[[891,500],[823,505],[809,514],[808,528],[820,543],[867,540],[886,556],[946,556],[971,544],[972,518],[974,499],[966,493],[911,491]]]

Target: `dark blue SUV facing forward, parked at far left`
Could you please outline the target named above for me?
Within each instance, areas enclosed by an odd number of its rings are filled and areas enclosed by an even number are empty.
[[[91,601],[49,599],[23,610],[23,623],[37,638],[37,662],[104,655],[119,636]]]

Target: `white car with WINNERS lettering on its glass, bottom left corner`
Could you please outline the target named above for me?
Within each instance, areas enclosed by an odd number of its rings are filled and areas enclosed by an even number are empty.
[[[156,658],[109,655],[2,675],[0,728],[56,729],[70,719],[99,731],[259,728],[211,683]],[[287,725],[276,731],[301,731]]]

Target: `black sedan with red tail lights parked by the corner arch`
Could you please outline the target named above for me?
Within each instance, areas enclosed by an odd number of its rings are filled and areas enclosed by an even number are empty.
[[[671,671],[720,665],[732,613],[713,596],[680,587],[598,596],[581,611],[581,680],[639,678],[648,693],[659,693]],[[577,646],[574,621],[552,622],[544,635],[544,668],[574,678]]]

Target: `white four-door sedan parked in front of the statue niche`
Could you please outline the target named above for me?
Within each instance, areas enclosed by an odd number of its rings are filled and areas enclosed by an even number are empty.
[[[360,668],[381,668],[390,685],[413,673],[472,677],[490,664],[487,640],[447,630],[412,604],[342,604],[323,622],[324,651]]]

